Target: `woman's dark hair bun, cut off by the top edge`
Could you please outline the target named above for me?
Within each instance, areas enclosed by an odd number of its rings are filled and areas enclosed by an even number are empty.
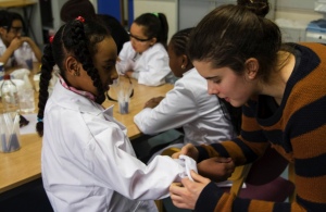
[[[238,5],[243,5],[259,16],[266,16],[269,12],[268,0],[237,0]]]

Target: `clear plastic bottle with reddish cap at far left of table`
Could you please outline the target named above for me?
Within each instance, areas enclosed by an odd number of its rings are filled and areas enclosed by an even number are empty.
[[[5,112],[20,112],[18,90],[9,74],[3,76],[1,100]]]

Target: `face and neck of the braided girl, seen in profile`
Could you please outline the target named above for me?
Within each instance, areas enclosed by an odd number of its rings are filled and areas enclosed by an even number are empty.
[[[109,90],[109,85],[118,77],[115,70],[116,62],[116,45],[111,37],[106,37],[101,42],[97,43],[97,53],[92,58],[93,65],[98,70],[102,86],[104,90]],[[82,64],[80,64],[82,66]],[[83,67],[82,67],[83,68]],[[93,82],[88,76],[87,72],[83,68],[80,77],[77,78],[76,88],[85,91],[89,91],[93,95],[98,95],[97,88],[93,86]]]

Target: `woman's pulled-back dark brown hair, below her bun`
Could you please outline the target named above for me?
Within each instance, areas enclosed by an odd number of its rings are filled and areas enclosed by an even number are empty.
[[[280,30],[272,21],[246,7],[222,5],[205,15],[193,29],[189,57],[209,61],[212,67],[230,67],[241,75],[249,58],[259,61],[258,75],[268,82],[281,46]]]

